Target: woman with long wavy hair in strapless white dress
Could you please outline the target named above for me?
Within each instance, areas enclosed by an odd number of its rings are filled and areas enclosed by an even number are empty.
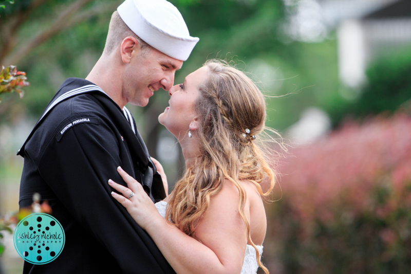
[[[219,60],[207,61],[169,94],[170,106],[158,119],[181,145],[185,174],[153,205],[119,167],[128,188],[109,180],[122,194],[113,197],[177,273],[248,274],[258,266],[268,273],[260,260],[267,228],[261,196],[274,187],[275,172],[266,161],[273,152],[262,149],[263,94],[243,72]],[[160,163],[155,165],[166,181]]]

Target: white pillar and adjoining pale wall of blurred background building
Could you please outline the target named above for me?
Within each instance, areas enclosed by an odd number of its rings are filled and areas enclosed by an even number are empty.
[[[337,28],[340,79],[349,87],[364,83],[365,69],[375,57],[411,43],[411,1],[386,2]]]

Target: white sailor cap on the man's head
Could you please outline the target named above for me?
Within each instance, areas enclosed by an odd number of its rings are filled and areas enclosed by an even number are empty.
[[[124,23],[148,45],[185,61],[198,42],[178,9],[165,0],[125,0],[117,11]]]

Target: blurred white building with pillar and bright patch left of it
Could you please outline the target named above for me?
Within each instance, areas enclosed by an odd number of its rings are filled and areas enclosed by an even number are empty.
[[[349,87],[366,80],[367,65],[381,52],[411,42],[411,0],[283,1],[292,40],[321,42],[337,29],[339,75]]]

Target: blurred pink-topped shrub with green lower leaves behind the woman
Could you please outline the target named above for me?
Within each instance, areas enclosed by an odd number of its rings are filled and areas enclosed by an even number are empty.
[[[273,273],[411,273],[409,116],[346,123],[291,154],[267,207]]]

